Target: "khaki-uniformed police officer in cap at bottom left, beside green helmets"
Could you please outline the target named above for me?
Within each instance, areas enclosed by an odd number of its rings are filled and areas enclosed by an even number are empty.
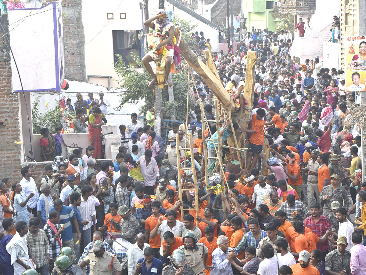
[[[104,243],[99,240],[94,242],[89,255],[79,265],[84,268],[88,264],[90,264],[90,275],[112,275],[112,271],[115,271],[116,275],[122,275],[122,266],[117,257],[105,251]]]

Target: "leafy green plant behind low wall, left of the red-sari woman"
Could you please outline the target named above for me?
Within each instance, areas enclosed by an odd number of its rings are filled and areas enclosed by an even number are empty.
[[[49,128],[51,133],[55,133],[55,128],[61,126],[61,112],[60,112],[60,101],[56,99],[56,107],[46,107],[44,113],[40,113],[38,106],[40,103],[41,96],[38,95],[33,103],[32,109],[32,124],[33,133],[39,134],[42,128]]]

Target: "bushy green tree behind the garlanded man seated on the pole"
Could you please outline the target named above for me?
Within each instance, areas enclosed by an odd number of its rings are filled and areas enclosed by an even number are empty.
[[[142,65],[138,56],[135,56],[135,63],[139,66]],[[135,67],[125,66],[122,57],[118,55],[118,62],[115,63],[115,72],[118,75],[117,83],[119,89],[126,89],[126,92],[120,94],[120,105],[116,110],[121,110],[126,103],[137,104],[139,100],[145,99],[145,105],[143,105],[139,112],[146,113],[148,105],[154,105],[155,98],[152,87],[147,87],[147,84],[151,80],[150,74],[142,66],[136,69]],[[188,72],[184,70],[182,72],[176,72],[173,74],[173,91],[174,101],[169,101],[168,88],[164,87],[162,93],[162,104],[165,108],[165,115],[172,117],[173,107],[176,110],[175,120],[183,121],[187,113],[187,82]],[[191,94],[189,94],[189,106],[192,105]]]

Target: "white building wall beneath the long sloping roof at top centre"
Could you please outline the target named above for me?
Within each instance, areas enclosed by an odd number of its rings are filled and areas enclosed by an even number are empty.
[[[150,18],[154,17],[157,14],[158,4],[159,4],[159,0],[150,0],[149,1],[149,17]],[[205,35],[205,38],[210,38],[212,52],[216,52],[219,50],[219,31],[218,30],[206,25],[205,23],[192,17],[191,15],[180,10],[179,8],[173,7],[173,5],[168,2],[165,2],[165,10],[173,11],[174,16],[178,16],[180,18],[191,21],[192,25],[198,24],[197,27],[194,30],[192,30],[192,32],[201,32],[202,31]],[[208,20],[210,20],[210,19],[208,19]]]

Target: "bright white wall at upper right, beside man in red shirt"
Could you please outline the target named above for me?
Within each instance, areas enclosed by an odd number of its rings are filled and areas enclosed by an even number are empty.
[[[304,63],[306,58],[314,59],[319,54],[320,59],[323,58],[324,48],[323,42],[328,41],[331,37],[329,29],[333,22],[333,15],[340,12],[340,0],[333,0],[329,5],[328,1],[317,1],[315,13],[310,16],[310,23],[313,26],[313,37],[299,37],[298,31],[295,30],[295,38],[291,48],[291,56],[296,55],[300,58],[300,63]],[[308,15],[302,15],[303,21],[306,22]],[[329,36],[328,36],[329,34]],[[340,54],[340,53],[339,53]],[[336,67],[339,68],[339,67]]]

